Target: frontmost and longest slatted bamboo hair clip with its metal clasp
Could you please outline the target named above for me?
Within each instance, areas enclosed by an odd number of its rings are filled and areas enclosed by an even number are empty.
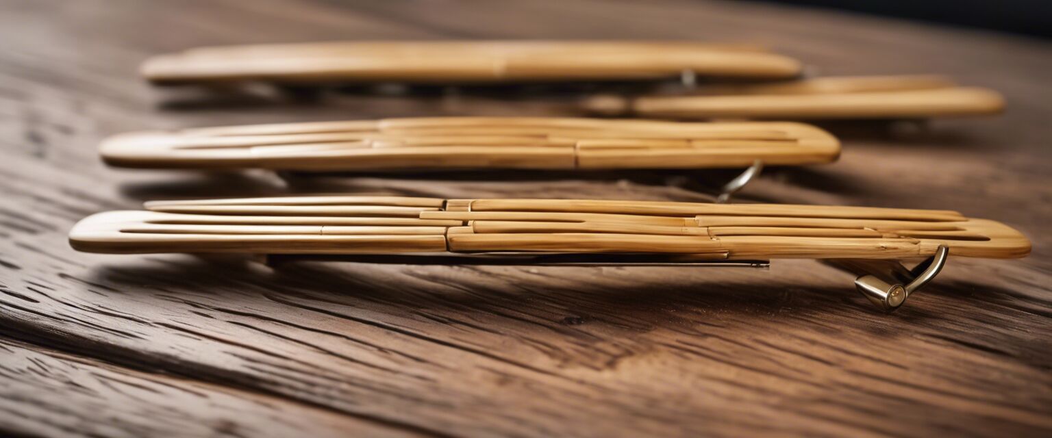
[[[830,259],[898,308],[948,253],[1011,258],[1018,231],[945,210],[584,200],[286,196],[146,204],[82,220],[70,245],[98,253],[252,253],[359,262],[766,267]],[[913,270],[901,260],[928,259]]]

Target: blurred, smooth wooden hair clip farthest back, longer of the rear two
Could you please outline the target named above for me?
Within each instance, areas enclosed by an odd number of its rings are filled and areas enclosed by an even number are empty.
[[[646,41],[403,41],[201,47],[147,60],[155,84],[264,81],[468,83],[786,79],[800,62],[756,47]]]

